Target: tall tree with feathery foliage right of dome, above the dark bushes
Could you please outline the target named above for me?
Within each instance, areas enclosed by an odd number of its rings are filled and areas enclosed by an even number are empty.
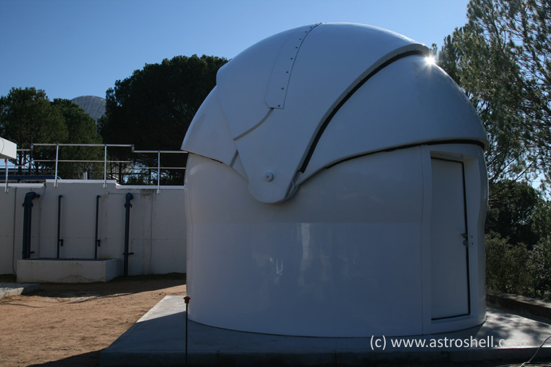
[[[464,88],[488,132],[490,185],[549,176],[551,3],[471,0],[468,23],[438,63]]]

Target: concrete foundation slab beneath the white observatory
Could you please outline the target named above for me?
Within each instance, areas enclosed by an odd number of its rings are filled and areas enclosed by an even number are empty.
[[[191,300],[193,302],[193,300]],[[328,315],[331,317],[331,315]],[[501,361],[521,364],[551,335],[551,324],[488,306],[486,322],[420,337],[325,338],[242,333],[188,322],[188,362],[211,365],[346,365]],[[166,296],[111,346],[101,366],[185,365],[185,303]],[[551,359],[543,346],[534,361]],[[502,364],[503,364],[502,363]]]

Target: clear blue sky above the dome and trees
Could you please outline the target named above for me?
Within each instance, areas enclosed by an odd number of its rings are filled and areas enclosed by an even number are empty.
[[[231,58],[300,25],[376,25],[441,46],[468,0],[0,0],[0,95],[105,97],[117,79],[177,55]]]

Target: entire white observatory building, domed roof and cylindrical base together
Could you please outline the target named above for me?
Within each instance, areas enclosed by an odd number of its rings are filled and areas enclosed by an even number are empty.
[[[323,23],[218,71],[182,145],[190,319],[321,337],[484,322],[488,141],[428,54]]]

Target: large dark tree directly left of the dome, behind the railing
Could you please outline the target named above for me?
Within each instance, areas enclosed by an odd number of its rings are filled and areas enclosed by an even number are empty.
[[[227,62],[216,56],[176,56],[146,64],[107,90],[100,120],[105,143],[134,144],[136,149],[179,150],[191,119],[216,85],[216,72]],[[118,158],[128,158],[117,154]],[[138,164],[154,167],[156,156]],[[181,155],[163,156],[164,167],[183,167]],[[182,185],[182,171],[165,171],[165,183]]]

